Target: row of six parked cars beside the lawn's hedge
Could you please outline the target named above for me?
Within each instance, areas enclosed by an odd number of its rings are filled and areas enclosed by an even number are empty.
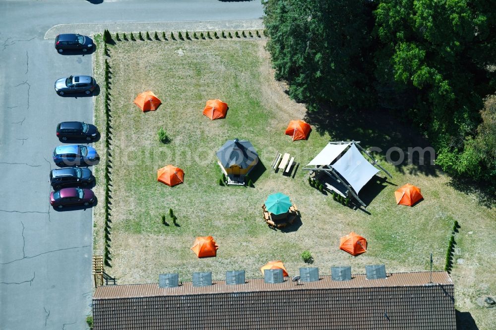
[[[64,50],[81,50],[87,52],[94,47],[91,38],[79,34],[60,34],[55,39],[55,49],[62,53]],[[55,91],[59,95],[66,93],[91,94],[97,87],[91,76],[77,75],[60,78],[55,82]],[[57,137],[61,142],[85,141],[98,139],[96,126],[82,121],[63,121],[57,125]],[[54,208],[64,206],[89,206],[96,200],[90,187],[95,183],[95,177],[88,166],[98,164],[100,156],[91,147],[82,144],[61,145],[54,149],[54,163],[61,167],[50,172],[50,185],[54,191],[50,193],[50,204]]]

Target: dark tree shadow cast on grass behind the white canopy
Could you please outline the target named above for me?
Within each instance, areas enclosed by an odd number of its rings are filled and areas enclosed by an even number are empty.
[[[380,153],[372,155],[377,159],[385,160],[389,150],[392,161],[396,161],[400,156],[398,151],[393,150],[401,149],[404,160],[396,165],[396,169],[401,173],[438,176],[439,168],[431,165],[429,152],[425,153],[425,159],[419,152],[411,152],[408,155],[408,148],[423,149],[430,147],[430,144],[412,128],[413,123],[406,122],[406,119],[401,122],[384,110],[363,111],[358,115],[351,110],[323,106],[318,111],[307,111],[305,121],[313,125],[320,135],[328,133],[337,141],[361,141],[365,149],[380,148]],[[408,164],[409,159],[412,165]]]

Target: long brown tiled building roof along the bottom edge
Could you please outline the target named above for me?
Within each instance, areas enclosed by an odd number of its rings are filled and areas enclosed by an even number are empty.
[[[426,272],[350,281],[321,276],[302,285],[249,279],[208,287],[100,286],[94,329],[456,329],[451,278],[429,278]]]

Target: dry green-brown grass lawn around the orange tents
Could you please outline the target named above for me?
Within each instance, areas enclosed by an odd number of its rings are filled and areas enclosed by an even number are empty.
[[[94,55],[95,77],[103,82],[103,45]],[[305,267],[301,253],[309,250],[320,274],[331,266],[351,265],[365,273],[365,265],[384,263],[386,272],[442,270],[453,221],[456,234],[452,276],[456,305],[470,311],[481,329],[490,329],[494,310],[480,307],[482,297],[496,290],[496,253],[491,248],[496,213],[449,185],[435,166],[381,164],[393,174],[374,180],[360,196],[370,201],[367,212],[353,210],[319,193],[302,170],[329,140],[361,140],[363,147],[415,147],[401,134],[400,124],[377,118],[353,118],[330,113],[325,118],[306,113],[274,81],[263,39],[118,42],[110,46],[112,71],[112,268],[119,284],[157,282],[160,273],[179,273],[183,281],[193,272],[211,271],[224,279],[225,271],[246,270],[261,277],[259,267],[280,259],[290,275]],[[103,86],[103,83],[102,83]],[[132,102],[152,90],[162,105],[143,113]],[[105,120],[102,92],[95,98],[95,122]],[[226,119],[210,121],[202,114],[206,100],[219,98],[229,105]],[[290,119],[307,115],[313,131],[308,141],[292,142],[284,130]],[[391,129],[388,130],[388,125]],[[171,143],[158,141],[163,127]],[[408,132],[408,129],[405,130]],[[228,139],[249,140],[262,164],[254,188],[218,185],[220,168],[215,152]],[[411,144],[409,144],[409,142]],[[96,143],[104,150],[104,142]],[[301,163],[295,177],[271,170],[276,151],[288,152]],[[382,156],[375,154],[377,158]],[[105,159],[103,159],[105,161]],[[168,187],[157,182],[157,169],[173,164],[185,171],[185,183]],[[264,167],[267,167],[264,169]],[[97,166],[103,182],[103,162]],[[380,173],[383,177],[384,174]],[[420,186],[425,200],[413,208],[397,206],[394,190],[407,182]],[[289,195],[301,212],[301,223],[285,231],[262,220],[261,205],[274,192]],[[96,188],[103,201],[103,187]],[[161,223],[169,208],[179,226]],[[103,254],[103,206],[95,207],[94,254]],[[369,251],[359,257],[339,250],[339,237],[355,231],[368,239]],[[196,236],[211,235],[216,258],[198,259],[190,250]],[[463,259],[459,261],[458,259]],[[457,263],[460,262],[461,264]],[[489,272],[489,273],[488,273]],[[493,318],[493,320],[496,318]]]

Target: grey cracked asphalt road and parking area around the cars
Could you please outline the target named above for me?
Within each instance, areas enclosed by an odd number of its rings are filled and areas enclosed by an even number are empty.
[[[92,210],[49,206],[58,122],[92,122],[92,97],[59,97],[54,81],[91,74],[91,55],[59,55],[62,23],[253,19],[260,1],[2,0],[0,2],[0,328],[87,329]],[[77,31],[75,31],[77,32]]]

